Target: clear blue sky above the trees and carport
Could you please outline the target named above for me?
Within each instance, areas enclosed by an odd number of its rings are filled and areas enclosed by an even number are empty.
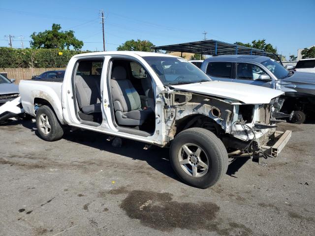
[[[315,0],[1,0],[0,46],[4,35],[24,36],[53,23],[72,29],[83,50],[102,49],[98,10],[104,9],[106,50],[129,39],[155,45],[207,39],[252,42],[265,38],[288,58],[298,48],[315,45]],[[21,47],[15,38],[13,47]]]

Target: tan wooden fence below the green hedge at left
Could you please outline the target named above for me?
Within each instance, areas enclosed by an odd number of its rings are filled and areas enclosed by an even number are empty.
[[[34,75],[40,75],[48,70],[65,70],[65,68],[0,68],[0,72],[7,73],[8,79],[15,79],[15,84],[20,80],[30,80]]]

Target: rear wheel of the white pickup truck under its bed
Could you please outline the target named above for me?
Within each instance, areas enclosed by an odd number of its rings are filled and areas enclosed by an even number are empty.
[[[50,128],[47,129],[47,133],[45,133],[45,128],[41,128],[41,116],[48,118]],[[39,136],[43,140],[52,142],[60,140],[63,137],[63,126],[49,106],[44,105],[38,108],[36,113],[36,127]]]

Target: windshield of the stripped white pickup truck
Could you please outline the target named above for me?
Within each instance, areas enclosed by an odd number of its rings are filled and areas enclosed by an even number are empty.
[[[198,67],[182,58],[143,57],[143,59],[153,68],[163,85],[211,81]]]

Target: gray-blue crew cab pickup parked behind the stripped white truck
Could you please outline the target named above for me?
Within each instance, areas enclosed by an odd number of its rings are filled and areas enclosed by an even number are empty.
[[[248,55],[212,57],[202,63],[201,69],[213,80],[284,91],[282,111],[291,114],[291,122],[303,123],[305,114],[315,111],[315,74],[288,71],[274,59]]]

